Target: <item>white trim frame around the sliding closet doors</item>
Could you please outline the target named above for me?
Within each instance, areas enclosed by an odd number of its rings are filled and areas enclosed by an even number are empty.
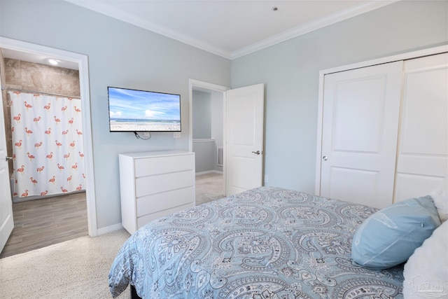
[[[398,60],[410,60],[417,57],[435,55],[448,52],[448,45],[416,50],[408,53],[378,58],[376,60],[367,60],[355,64],[347,64],[342,67],[334,67],[332,69],[323,69],[319,71],[319,90],[318,90],[318,110],[317,110],[317,145],[316,145],[316,183],[314,192],[321,195],[321,162],[322,162],[322,130],[323,130],[323,88],[325,83],[325,75],[337,73],[339,71],[348,71],[350,69],[359,69],[362,67],[371,67],[375,64],[384,64],[395,62]]]

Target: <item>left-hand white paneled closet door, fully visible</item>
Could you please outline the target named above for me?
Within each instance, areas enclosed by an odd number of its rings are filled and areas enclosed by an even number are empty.
[[[402,62],[325,75],[320,195],[391,204]]]

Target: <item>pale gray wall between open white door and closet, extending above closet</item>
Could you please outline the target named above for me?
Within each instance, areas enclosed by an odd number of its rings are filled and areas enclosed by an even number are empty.
[[[322,69],[441,46],[447,1],[400,1],[232,61],[232,88],[266,83],[268,186],[314,193]]]

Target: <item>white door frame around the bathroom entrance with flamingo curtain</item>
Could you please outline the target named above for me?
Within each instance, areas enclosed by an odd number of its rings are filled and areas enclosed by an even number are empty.
[[[17,41],[0,36],[0,48],[18,50],[36,55],[45,55],[78,63],[80,97],[83,99],[81,107],[83,115],[83,145],[85,159],[85,196],[87,201],[87,226],[90,237],[98,235],[97,207],[95,198],[94,171],[93,171],[93,148],[92,148],[92,123],[90,118],[90,87],[89,67],[87,55],[72,53],[46,46]]]

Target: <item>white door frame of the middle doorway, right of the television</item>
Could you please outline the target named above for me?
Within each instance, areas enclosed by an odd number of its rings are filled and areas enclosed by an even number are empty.
[[[188,151],[193,151],[193,90],[199,90],[204,92],[219,92],[223,95],[223,149],[225,151],[225,106],[226,106],[226,94],[230,88],[222,85],[216,85],[214,83],[208,83],[195,79],[188,79],[188,92],[190,96],[190,133],[188,141]],[[225,195],[225,155],[223,155],[223,188]]]

